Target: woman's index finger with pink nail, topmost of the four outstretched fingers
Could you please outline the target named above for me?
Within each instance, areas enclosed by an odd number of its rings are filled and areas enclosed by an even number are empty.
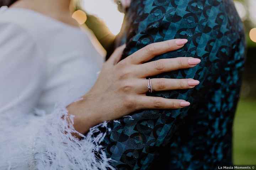
[[[188,42],[187,39],[171,39],[163,42],[153,43],[130,55],[132,64],[142,64],[156,55],[180,49]]]

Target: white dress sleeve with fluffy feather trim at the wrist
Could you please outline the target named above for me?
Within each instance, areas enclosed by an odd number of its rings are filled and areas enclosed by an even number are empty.
[[[0,169],[98,170],[110,167],[94,127],[79,140],[65,105],[51,114],[36,107],[45,81],[45,61],[22,28],[0,23]],[[99,126],[106,126],[102,124]],[[111,168],[111,167],[110,167]],[[112,168],[111,168],[112,169]]]

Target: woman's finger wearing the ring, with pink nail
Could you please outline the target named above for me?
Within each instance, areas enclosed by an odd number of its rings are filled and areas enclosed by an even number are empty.
[[[167,91],[177,89],[191,89],[197,86],[200,82],[192,78],[188,79],[171,79],[171,78],[153,78],[150,79],[151,88],[153,91]],[[139,79],[135,90],[138,94],[148,92],[148,79]]]

